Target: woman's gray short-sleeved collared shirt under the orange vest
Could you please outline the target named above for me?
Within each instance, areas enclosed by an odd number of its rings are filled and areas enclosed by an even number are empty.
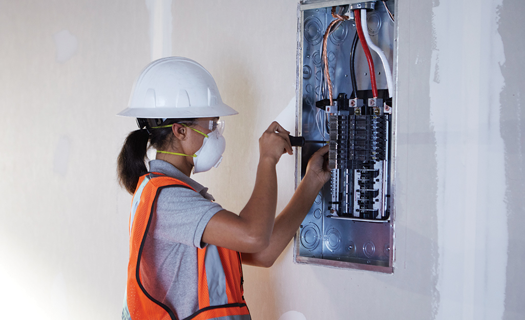
[[[170,163],[150,161],[150,172],[174,177],[197,192],[177,187],[161,190],[141,260],[142,283],[156,300],[183,319],[198,310],[197,248],[209,219],[223,208],[208,188]]]

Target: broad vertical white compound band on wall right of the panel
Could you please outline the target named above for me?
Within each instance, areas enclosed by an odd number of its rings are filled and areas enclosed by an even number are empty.
[[[437,319],[501,319],[507,211],[499,101],[502,1],[439,1],[430,111],[437,141]]]

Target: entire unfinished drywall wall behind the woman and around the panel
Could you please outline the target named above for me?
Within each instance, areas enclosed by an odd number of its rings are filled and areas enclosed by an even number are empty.
[[[8,318],[120,316],[131,196],[114,116],[152,59],[202,63],[225,157],[195,178],[225,208],[251,194],[257,139],[295,130],[297,1],[0,2],[0,308]],[[394,274],[245,267],[255,320],[522,319],[525,28],[521,0],[398,0]],[[170,35],[171,34],[171,35]],[[278,164],[282,209],[295,161]],[[20,312],[23,310],[23,312]]]

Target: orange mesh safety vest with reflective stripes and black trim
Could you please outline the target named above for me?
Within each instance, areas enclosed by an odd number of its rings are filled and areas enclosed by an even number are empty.
[[[178,320],[173,310],[155,300],[141,283],[140,259],[156,200],[166,187],[192,189],[184,182],[157,173],[139,179],[130,215],[130,260],[123,320]],[[195,190],[194,190],[195,191]],[[250,320],[243,296],[243,270],[236,251],[208,244],[196,248],[199,310],[183,320]]]

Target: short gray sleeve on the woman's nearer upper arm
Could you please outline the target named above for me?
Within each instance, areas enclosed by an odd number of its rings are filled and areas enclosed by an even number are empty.
[[[191,189],[167,187],[161,190],[152,220],[153,238],[204,248],[204,228],[223,208]]]

